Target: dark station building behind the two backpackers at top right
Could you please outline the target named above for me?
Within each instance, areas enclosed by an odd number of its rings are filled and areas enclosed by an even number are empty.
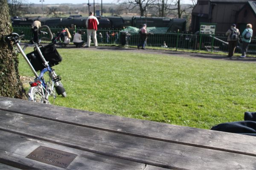
[[[198,0],[192,10],[191,31],[199,31],[200,23],[216,23],[216,34],[225,33],[235,23],[240,32],[247,23],[256,34],[256,0]]]

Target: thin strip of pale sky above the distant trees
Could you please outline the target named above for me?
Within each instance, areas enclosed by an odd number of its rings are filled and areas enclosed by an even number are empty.
[[[41,0],[26,0],[27,3],[40,3]],[[191,3],[191,0],[181,0],[182,3]],[[90,0],[93,2],[93,0]],[[95,3],[101,3],[101,0],[95,0]],[[102,0],[102,3],[116,3],[116,0]],[[88,0],[44,0],[43,4],[56,4],[56,3],[88,3]]]

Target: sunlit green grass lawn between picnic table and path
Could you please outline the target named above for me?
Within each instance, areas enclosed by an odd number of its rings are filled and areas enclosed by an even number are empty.
[[[209,129],[256,111],[256,65],[250,62],[58,49],[54,66],[67,98],[55,105]],[[20,57],[20,75],[32,72]]]

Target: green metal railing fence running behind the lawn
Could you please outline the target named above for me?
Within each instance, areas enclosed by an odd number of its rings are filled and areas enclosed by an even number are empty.
[[[63,30],[63,28],[51,27],[53,35],[58,34]],[[25,34],[25,40],[30,40],[33,37],[32,31],[30,27],[27,26],[15,26],[13,27],[14,32],[20,34],[22,31]],[[81,30],[84,32],[82,35],[82,39],[87,41],[87,33],[84,28],[76,28],[69,29],[70,34],[73,38],[73,35],[76,31]],[[115,36],[115,33],[118,33],[118,38]],[[102,39],[99,37],[99,33],[102,34]],[[107,33],[109,34],[109,40],[107,40]],[[41,35],[43,37],[47,37],[48,35]],[[128,41],[126,45],[135,45],[140,42],[140,35],[133,34],[130,36],[126,36]],[[122,40],[125,36],[122,36],[122,30],[114,30],[114,29],[99,29],[97,31],[97,40],[99,44],[122,44]],[[201,44],[200,44],[201,38]],[[202,50],[202,51],[222,51],[227,52],[227,37],[224,34],[218,34],[214,37],[208,35],[196,35],[188,32],[170,32],[165,34],[153,34],[149,35],[147,39],[147,46],[151,47],[161,47],[163,43],[168,46],[168,48],[175,49],[189,49],[189,50]],[[241,49],[236,49],[237,53],[241,52]],[[253,39],[249,45],[249,49],[247,54],[256,54],[256,39]]]

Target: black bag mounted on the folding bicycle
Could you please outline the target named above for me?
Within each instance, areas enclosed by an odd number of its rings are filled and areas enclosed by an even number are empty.
[[[54,44],[42,46],[40,51],[42,52],[45,60],[48,61],[50,67],[58,65],[62,61],[62,57],[58,53]],[[28,57],[29,62],[32,64],[35,71],[41,71],[42,69],[46,68],[37,50],[34,49],[34,51],[26,54],[26,56]]]

